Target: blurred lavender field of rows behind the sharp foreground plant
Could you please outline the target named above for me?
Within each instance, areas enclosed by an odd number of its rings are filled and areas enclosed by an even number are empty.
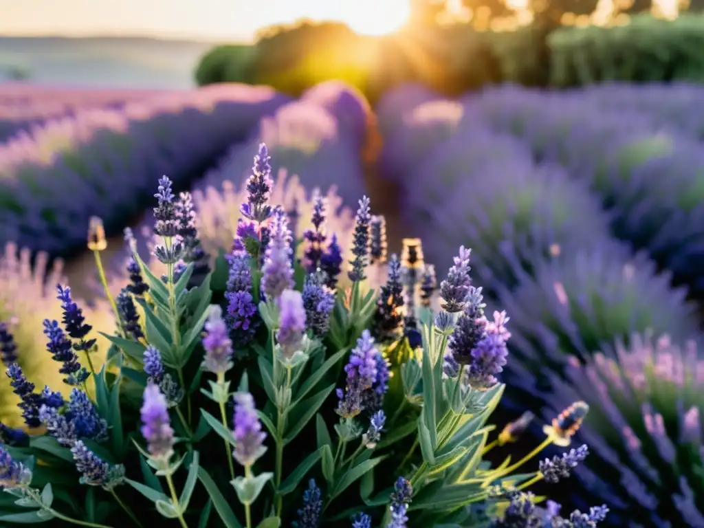
[[[377,108],[338,82],[299,99],[241,84],[3,84],[0,322],[12,329],[27,376],[59,386],[56,362],[43,359],[42,320],[61,314],[54,286],[68,274],[91,300],[77,301],[89,324],[113,333],[113,308],[86,248],[89,224],[103,222],[105,282],[118,296],[134,280],[122,230],[132,229],[140,252],[153,249],[163,175],[177,195],[192,194],[201,264],[215,270],[222,297],[222,255],[242,237],[243,185],[265,143],[278,177],[272,203],[288,213],[298,258],[317,236],[314,189],[327,196],[340,262],[356,258],[354,211],[370,197],[372,226],[384,232],[367,274],[372,287],[391,275],[387,253],[401,250],[402,237],[422,241],[420,263],[401,256],[407,324],[416,304],[439,306],[435,271],[445,277],[458,248],[472,250],[486,313],[510,318],[501,417],[532,411],[524,434],[539,443],[538,422],[574,401],[589,404],[576,434],[589,457],[572,467],[569,486],[539,482],[536,494],[582,512],[605,503],[600,526],[704,528],[702,108],[704,86],[695,84],[501,86],[457,99],[406,85]],[[404,328],[413,348],[418,331]],[[18,427],[12,391],[0,383],[0,418]],[[474,526],[448,524],[465,525]]]

